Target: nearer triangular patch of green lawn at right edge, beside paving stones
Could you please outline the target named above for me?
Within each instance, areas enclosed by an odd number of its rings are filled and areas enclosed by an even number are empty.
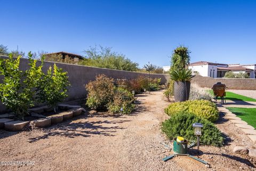
[[[232,113],[235,113],[237,117],[246,121],[247,124],[256,128],[256,108],[227,108]]]

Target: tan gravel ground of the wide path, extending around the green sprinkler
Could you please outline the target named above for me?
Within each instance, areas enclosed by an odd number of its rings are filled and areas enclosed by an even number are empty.
[[[254,160],[231,153],[235,145],[255,145],[224,119],[217,126],[228,135],[228,145],[201,146],[204,153],[197,156],[210,168],[186,156],[163,162],[172,153],[159,143],[171,145],[160,130],[169,102],[163,91],[138,95],[138,100],[139,109],[129,116],[82,115],[32,132],[0,131],[0,161],[35,161],[0,170],[255,170]]]

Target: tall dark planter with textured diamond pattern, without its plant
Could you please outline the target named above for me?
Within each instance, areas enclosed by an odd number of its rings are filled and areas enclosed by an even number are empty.
[[[174,100],[183,102],[188,100],[190,92],[190,82],[174,82]]]

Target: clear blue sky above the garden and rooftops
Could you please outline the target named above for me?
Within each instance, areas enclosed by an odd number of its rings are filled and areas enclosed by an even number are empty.
[[[0,0],[0,44],[10,50],[84,55],[113,47],[140,67],[170,65],[185,45],[191,62],[256,63],[256,1]]]

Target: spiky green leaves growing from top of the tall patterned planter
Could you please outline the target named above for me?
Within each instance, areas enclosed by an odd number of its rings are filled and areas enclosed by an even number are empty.
[[[174,70],[170,73],[170,77],[175,82],[190,82],[191,78],[194,76],[192,75],[192,71],[190,69],[179,69]]]

